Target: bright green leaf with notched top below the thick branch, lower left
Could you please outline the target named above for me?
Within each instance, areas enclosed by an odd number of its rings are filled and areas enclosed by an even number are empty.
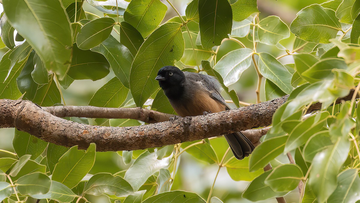
[[[71,147],[55,165],[51,180],[63,183],[72,188],[93,167],[95,161],[95,144],[91,143],[87,151]]]

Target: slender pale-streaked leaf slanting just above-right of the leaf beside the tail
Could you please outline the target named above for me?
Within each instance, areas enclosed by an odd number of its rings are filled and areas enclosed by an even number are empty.
[[[289,133],[288,140],[285,144],[284,152],[289,152],[305,143],[311,135],[318,133],[326,123],[330,116],[329,112],[317,113],[314,116],[308,117],[305,121],[298,124],[291,133]]]

